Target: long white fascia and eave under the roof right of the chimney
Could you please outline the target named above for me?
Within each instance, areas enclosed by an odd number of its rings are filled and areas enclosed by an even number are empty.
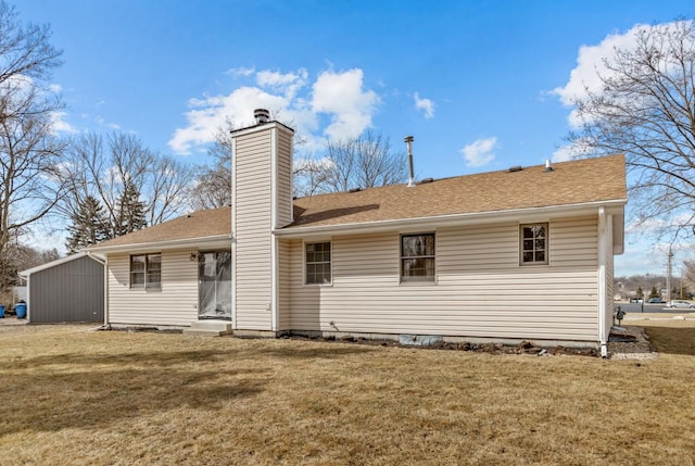
[[[551,217],[561,218],[577,215],[596,215],[598,207],[606,212],[621,214],[626,199],[587,202],[570,205],[551,205],[547,207],[511,209],[495,212],[477,212],[467,214],[437,215],[431,217],[399,218],[394,221],[365,222],[357,224],[324,225],[276,229],[273,232],[282,238],[312,238],[315,236],[339,234],[367,234],[390,231],[402,228],[454,227],[467,225],[492,224],[503,222],[532,223],[547,221]]]

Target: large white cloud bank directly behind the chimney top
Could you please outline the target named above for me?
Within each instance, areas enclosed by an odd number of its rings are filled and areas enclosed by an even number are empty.
[[[175,130],[168,144],[177,153],[203,150],[213,141],[216,129],[231,121],[237,125],[252,123],[253,110],[268,109],[274,117],[294,127],[302,150],[311,152],[323,146],[324,138],[346,138],[371,126],[371,117],[380,102],[371,90],[365,90],[362,70],[327,71],[312,84],[308,72],[250,71],[255,86],[240,87],[229,95],[193,98],[188,102],[187,124]],[[232,73],[232,71],[228,72]],[[321,128],[319,116],[330,123]]]

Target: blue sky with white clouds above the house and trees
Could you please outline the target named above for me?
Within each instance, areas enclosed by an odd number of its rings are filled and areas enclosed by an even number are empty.
[[[413,135],[420,178],[564,159],[566,102],[602,53],[636,25],[695,16],[692,0],[14,4],[64,51],[65,133],[131,131],[202,163],[225,119],[265,106],[306,156],[366,128],[396,148]],[[662,273],[658,248],[630,230],[616,274]]]

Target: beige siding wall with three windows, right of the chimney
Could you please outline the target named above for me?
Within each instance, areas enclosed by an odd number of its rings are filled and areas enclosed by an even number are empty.
[[[332,286],[303,285],[302,242],[293,241],[290,325],[596,341],[596,218],[548,228],[551,263],[538,266],[519,265],[517,223],[438,229],[435,284],[422,285],[400,282],[400,232],[333,237]]]

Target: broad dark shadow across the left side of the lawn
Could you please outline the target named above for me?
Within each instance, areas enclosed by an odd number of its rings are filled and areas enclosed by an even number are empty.
[[[195,352],[180,355],[191,353]],[[229,401],[262,393],[273,377],[265,368],[214,369],[213,364],[213,369],[187,369],[172,358],[159,364],[156,357],[134,356],[80,355],[81,362],[65,368],[65,355],[55,367],[54,357],[59,356],[40,357],[43,367],[33,365],[3,377],[0,437],[25,430],[99,428],[180,407],[216,412]]]

